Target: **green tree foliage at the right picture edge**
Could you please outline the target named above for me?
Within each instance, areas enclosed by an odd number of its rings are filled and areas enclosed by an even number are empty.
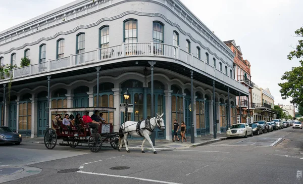
[[[295,31],[295,35],[303,37],[303,27],[300,27]],[[281,80],[283,82],[278,85],[281,87],[280,93],[282,99],[292,98],[291,104],[303,106],[303,40],[299,40],[298,44],[287,56],[287,59],[292,60],[293,58],[300,59],[301,66],[293,67],[291,71],[285,72]]]

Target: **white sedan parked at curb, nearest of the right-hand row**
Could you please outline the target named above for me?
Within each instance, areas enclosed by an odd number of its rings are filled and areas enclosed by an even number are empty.
[[[247,123],[238,123],[233,124],[227,131],[227,137],[233,136],[244,136],[247,138],[247,135],[253,136],[252,128]]]

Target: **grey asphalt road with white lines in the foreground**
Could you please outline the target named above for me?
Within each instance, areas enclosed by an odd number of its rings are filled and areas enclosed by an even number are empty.
[[[23,143],[0,146],[0,165],[28,163],[42,169],[39,174],[7,183],[295,184],[303,183],[302,135],[303,130],[288,127],[247,139],[228,139],[186,150],[158,151],[158,154],[140,150],[126,153],[125,149],[118,152],[111,148],[90,153],[88,148],[59,146],[46,150],[43,144]],[[280,138],[282,142],[274,146],[254,144]],[[58,173],[72,168],[79,170]]]

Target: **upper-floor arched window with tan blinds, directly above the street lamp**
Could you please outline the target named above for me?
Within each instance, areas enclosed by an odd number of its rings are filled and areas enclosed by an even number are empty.
[[[137,20],[132,19],[124,21],[124,42],[137,42]]]

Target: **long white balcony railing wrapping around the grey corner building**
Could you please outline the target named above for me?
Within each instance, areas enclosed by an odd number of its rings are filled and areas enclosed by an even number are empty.
[[[213,66],[207,64],[205,61],[195,57],[193,54],[187,53],[186,51],[180,49],[179,46],[164,44],[164,43],[154,43],[150,42],[140,42],[140,43],[121,43],[120,45],[115,45],[108,48],[98,48],[93,51],[70,55],[68,57],[48,60],[46,62],[31,64],[22,68],[15,68],[10,71],[14,78],[21,78],[26,76],[32,76],[42,73],[47,73],[51,71],[56,71],[58,73],[65,72],[63,69],[68,69],[71,67],[89,65],[92,63],[102,63],[104,61],[124,59],[127,57],[161,57],[162,58],[173,59],[173,62],[187,64],[194,67],[201,72],[208,73],[215,78],[237,88],[245,93],[248,93],[248,87],[242,85],[239,81],[226,75],[220,70],[214,68]],[[140,58],[144,60],[144,58]],[[150,60],[150,58],[146,58]],[[9,79],[9,76],[4,76],[5,79]],[[0,80],[1,81],[1,80]]]

